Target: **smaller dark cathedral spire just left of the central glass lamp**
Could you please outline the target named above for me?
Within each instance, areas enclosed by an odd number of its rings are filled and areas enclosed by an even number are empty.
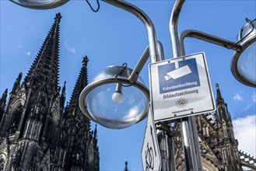
[[[76,113],[79,109],[79,96],[82,92],[82,89],[87,85],[87,63],[89,59],[84,57],[82,59],[82,68],[79,73],[79,78],[76,80],[75,88],[73,89],[71,99],[68,104],[68,113]]]

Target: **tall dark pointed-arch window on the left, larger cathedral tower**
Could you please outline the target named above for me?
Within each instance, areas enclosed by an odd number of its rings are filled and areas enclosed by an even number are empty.
[[[12,124],[9,127],[9,134],[15,134],[19,126],[19,120],[22,115],[23,106],[19,105],[12,113]]]

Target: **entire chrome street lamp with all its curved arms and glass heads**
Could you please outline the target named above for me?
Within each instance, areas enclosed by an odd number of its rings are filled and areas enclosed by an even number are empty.
[[[68,2],[68,0],[11,1],[32,9],[51,9]],[[83,89],[79,97],[79,106],[89,119],[98,124],[102,124],[104,127],[121,129],[136,124],[147,116],[149,103],[152,102],[152,96],[149,95],[149,90],[143,85],[142,79],[139,78],[139,72],[142,70],[149,56],[152,63],[163,60],[163,47],[160,42],[157,42],[156,40],[156,32],[153,23],[141,9],[121,0],[103,0],[103,2],[117,6],[118,8],[124,9],[137,16],[146,26],[149,39],[149,47],[147,47],[146,51],[142,54],[142,57],[134,70],[125,66],[112,66],[106,68],[103,72],[100,72],[99,75],[96,75],[93,82]],[[184,0],[177,0],[170,16],[170,37],[173,57],[177,58],[184,55],[185,37],[195,37],[212,44],[218,44],[233,49],[235,51],[231,64],[233,75],[243,84],[256,87],[255,65],[251,65],[255,63],[256,58],[256,20],[248,20],[247,25],[244,26],[239,33],[239,40],[237,43],[197,30],[185,30],[181,33],[181,37],[179,38],[177,34],[177,23],[184,2]],[[135,93],[132,93],[130,96],[131,93],[128,92],[131,91]],[[102,97],[107,97],[108,99],[112,99],[112,101]],[[110,105],[107,101],[110,101]],[[131,103],[131,101],[135,103]],[[109,105],[109,107],[115,107],[115,110],[107,110],[107,108],[95,110],[96,103],[100,102],[107,106]],[[120,110],[124,112],[121,117],[113,115],[113,113],[118,112],[121,114]],[[165,156],[162,155],[162,170],[175,169],[174,159],[171,159],[171,163],[169,159],[169,155],[174,158],[174,155],[172,155],[174,148],[170,145],[170,139],[166,136],[168,129],[170,130],[170,126],[167,124],[159,124],[158,128],[160,131],[158,134],[163,134],[163,136],[159,136],[159,138],[161,137],[159,140],[160,148],[167,154]],[[202,170],[202,161],[194,116],[181,118],[181,135],[186,169]],[[170,146],[168,147],[168,145]],[[170,149],[168,150],[167,148]]]

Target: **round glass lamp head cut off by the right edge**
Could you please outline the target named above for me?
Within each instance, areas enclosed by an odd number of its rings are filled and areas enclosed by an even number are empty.
[[[242,50],[233,54],[231,71],[239,82],[256,87],[256,19],[240,30],[237,39]]]

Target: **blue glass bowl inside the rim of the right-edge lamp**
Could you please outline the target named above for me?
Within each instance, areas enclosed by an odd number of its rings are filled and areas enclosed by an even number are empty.
[[[237,70],[247,81],[256,85],[256,42],[247,47],[237,61]]]

